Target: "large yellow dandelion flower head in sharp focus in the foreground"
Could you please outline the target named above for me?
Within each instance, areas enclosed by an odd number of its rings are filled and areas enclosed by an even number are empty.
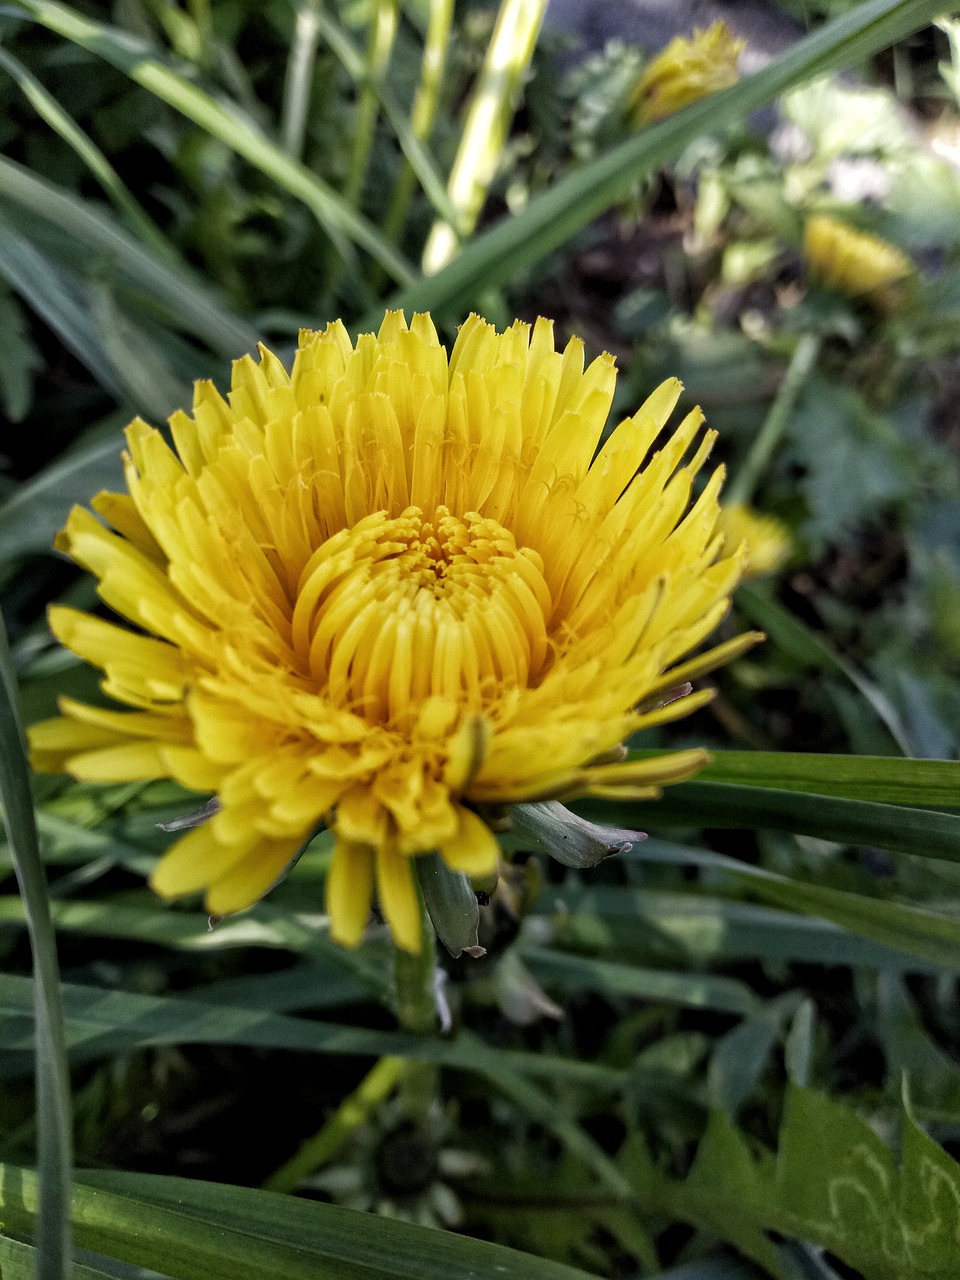
[[[159,863],[165,897],[210,911],[261,897],[328,823],[333,936],[355,945],[374,888],[420,946],[412,856],[490,874],[486,805],[650,796],[704,753],[608,763],[748,643],[682,662],[740,575],[714,532],[721,472],[690,506],[714,433],[664,383],[596,453],[616,370],[584,370],[547,320],[476,316],[453,349],[389,314],[352,344],[306,330],[288,372],[260,349],[224,399],[198,383],[174,449],[127,429],[127,494],[74,508],[58,545],[136,630],[67,607],[59,640],[133,710],[69,699],[35,726],[41,769],[174,778],[219,810]],[[684,461],[687,451],[692,457]],[[596,456],[594,457],[594,454]],[[648,460],[648,461],[645,461]],[[637,709],[640,708],[640,709]]]

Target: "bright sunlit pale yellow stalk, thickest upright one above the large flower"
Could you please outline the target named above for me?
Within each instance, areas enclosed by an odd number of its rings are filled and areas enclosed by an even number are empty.
[[[428,275],[445,266],[462,237],[476,227],[545,10],[547,0],[502,0],[447,183],[457,219],[438,221],[430,229],[424,250]]]

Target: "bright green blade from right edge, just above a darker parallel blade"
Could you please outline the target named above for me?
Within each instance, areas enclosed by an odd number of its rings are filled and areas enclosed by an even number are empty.
[[[632,753],[631,753],[632,754]],[[650,753],[655,754],[655,753]],[[847,800],[960,809],[959,760],[801,751],[712,751],[704,782],[737,782],[781,791],[815,791]]]

